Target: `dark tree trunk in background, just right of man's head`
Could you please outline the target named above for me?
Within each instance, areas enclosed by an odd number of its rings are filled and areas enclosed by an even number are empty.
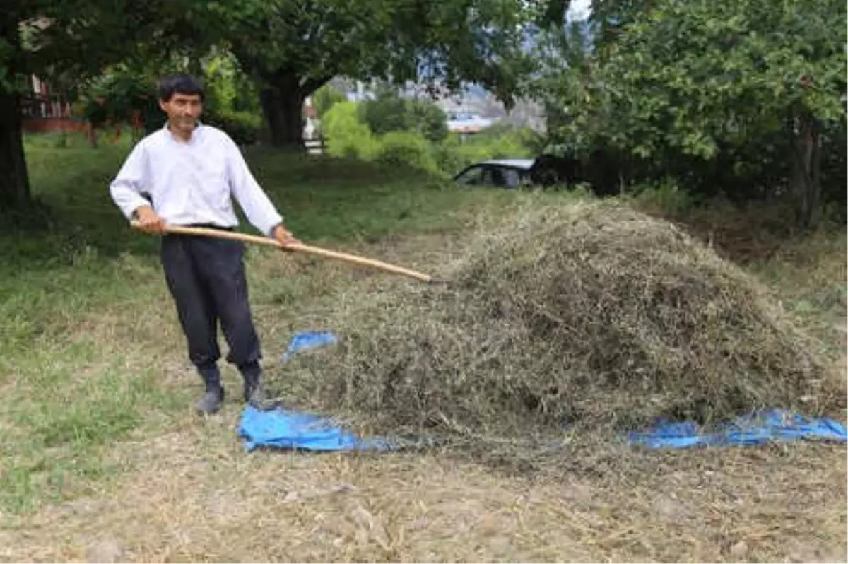
[[[298,76],[278,73],[259,92],[265,124],[274,147],[304,148],[304,100]]]

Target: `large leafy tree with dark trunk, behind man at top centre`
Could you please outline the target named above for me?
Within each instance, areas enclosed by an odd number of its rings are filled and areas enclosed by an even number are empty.
[[[533,3],[529,4],[533,6]],[[274,145],[301,144],[304,99],[334,76],[477,82],[510,101],[529,69],[520,0],[232,0],[197,4],[258,81]],[[198,27],[198,29],[200,29]]]

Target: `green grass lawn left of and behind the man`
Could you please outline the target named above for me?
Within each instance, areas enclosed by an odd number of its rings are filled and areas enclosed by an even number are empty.
[[[164,433],[195,399],[192,371],[171,366],[185,354],[157,241],[132,232],[109,198],[129,149],[126,136],[97,149],[74,136],[64,148],[27,138],[38,206],[0,232],[2,511],[32,511],[109,483],[121,471],[111,455],[117,441]],[[468,211],[515,198],[267,148],[247,158],[293,232],[334,248],[449,230]],[[255,232],[246,222],[242,229]],[[258,309],[286,310],[326,292],[320,281],[272,282],[256,284]]]

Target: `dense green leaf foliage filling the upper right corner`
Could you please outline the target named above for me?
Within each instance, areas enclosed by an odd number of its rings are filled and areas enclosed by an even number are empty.
[[[538,82],[555,141],[604,154],[628,181],[672,176],[736,201],[793,194],[815,221],[848,166],[848,4],[838,0],[596,3],[620,14],[595,53],[572,33]],[[603,4],[603,6],[600,6]],[[568,64],[565,64],[567,61]],[[807,156],[805,156],[807,155]]]

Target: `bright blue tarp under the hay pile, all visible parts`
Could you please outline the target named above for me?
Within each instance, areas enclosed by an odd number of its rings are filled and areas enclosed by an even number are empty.
[[[286,362],[301,350],[337,343],[332,332],[301,332],[294,336],[282,355]],[[365,440],[343,430],[325,416],[276,408],[256,410],[248,406],[238,427],[245,448],[293,450],[387,450],[388,441]],[[701,433],[692,422],[658,422],[639,433],[629,433],[632,444],[653,449],[683,449],[695,446],[762,444],[773,440],[800,438],[848,442],[848,429],[832,419],[812,419],[781,410],[767,410],[739,417],[715,433]]]

